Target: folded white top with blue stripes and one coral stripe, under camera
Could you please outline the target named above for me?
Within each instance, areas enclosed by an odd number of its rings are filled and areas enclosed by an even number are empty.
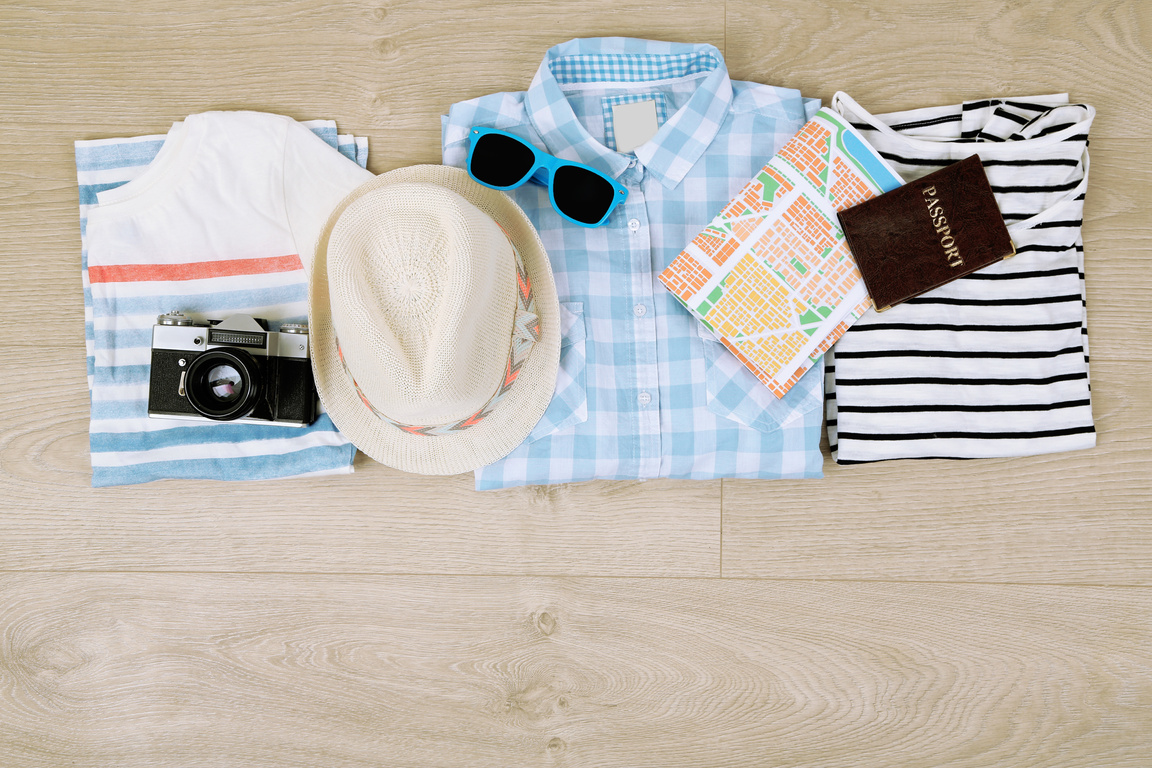
[[[326,416],[305,428],[150,419],[147,380],[158,314],[306,320],[312,244],[372,177],[366,160],[366,140],[335,123],[251,112],[76,142],[93,486],[351,471],[355,449]]]

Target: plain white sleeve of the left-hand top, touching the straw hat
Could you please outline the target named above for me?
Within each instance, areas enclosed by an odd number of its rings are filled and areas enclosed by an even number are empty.
[[[374,175],[295,120],[285,136],[283,198],[296,252],[311,276],[320,229],[340,200]]]

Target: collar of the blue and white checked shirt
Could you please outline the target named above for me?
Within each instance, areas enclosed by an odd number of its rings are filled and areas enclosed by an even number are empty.
[[[577,120],[562,85],[645,83],[707,73],[688,104],[636,147],[647,173],[676,187],[715,138],[732,105],[732,81],[712,45],[658,43],[632,38],[591,38],[562,43],[545,54],[524,97],[528,116],[552,154],[619,177],[630,158],[605,146]]]

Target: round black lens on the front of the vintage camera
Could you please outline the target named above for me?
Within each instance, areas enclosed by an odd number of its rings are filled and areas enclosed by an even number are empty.
[[[259,395],[260,368],[242,349],[214,349],[188,366],[184,390],[200,416],[230,421],[251,413]]]

